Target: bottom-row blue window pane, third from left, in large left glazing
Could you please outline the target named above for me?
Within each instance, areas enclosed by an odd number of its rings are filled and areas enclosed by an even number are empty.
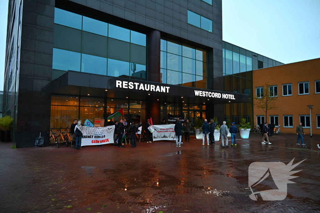
[[[108,58],[108,75],[121,78],[129,78],[129,62]]]

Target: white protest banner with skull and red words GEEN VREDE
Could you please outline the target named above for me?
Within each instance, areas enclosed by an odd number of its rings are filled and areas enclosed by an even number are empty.
[[[101,145],[113,143],[115,126],[91,127],[82,126],[81,146]]]

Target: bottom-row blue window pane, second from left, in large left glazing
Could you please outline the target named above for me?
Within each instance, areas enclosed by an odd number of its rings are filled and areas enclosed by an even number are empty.
[[[107,58],[82,54],[81,72],[107,75]]]

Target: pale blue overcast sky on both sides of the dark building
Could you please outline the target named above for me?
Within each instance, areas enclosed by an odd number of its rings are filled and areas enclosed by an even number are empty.
[[[320,0],[222,0],[223,40],[284,64],[320,58]],[[3,90],[8,0],[0,0]]]

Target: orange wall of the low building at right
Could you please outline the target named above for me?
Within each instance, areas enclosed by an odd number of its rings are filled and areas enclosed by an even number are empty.
[[[268,110],[267,122],[270,122],[270,115],[278,115],[283,133],[296,133],[299,115],[309,115],[310,111],[307,105],[314,105],[311,109],[312,134],[319,135],[320,128],[316,128],[316,115],[320,115],[320,94],[315,94],[315,80],[320,80],[320,58],[254,70],[253,96],[256,96],[256,87],[262,87],[266,82],[270,86],[278,86],[278,100],[276,101],[278,108]],[[298,82],[302,81],[309,81],[309,95],[298,95]],[[282,96],[282,84],[288,83],[292,83],[292,96]],[[253,103],[256,103],[255,99]],[[257,115],[265,116],[265,112],[255,105],[253,106],[253,114],[254,124],[257,123]],[[283,115],[293,115],[293,128],[283,127]],[[304,128],[304,131],[306,134],[310,134],[310,128]]]

